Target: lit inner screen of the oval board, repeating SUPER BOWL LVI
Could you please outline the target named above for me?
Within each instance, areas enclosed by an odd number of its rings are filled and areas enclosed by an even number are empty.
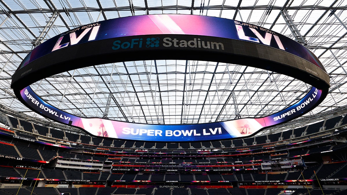
[[[24,101],[35,111],[61,123],[82,128],[94,136],[142,141],[183,142],[252,135],[264,127],[280,124],[301,115],[315,105],[321,96],[321,92],[321,90],[313,87],[296,104],[263,118],[243,118],[194,125],[150,125],[102,118],[82,118],[46,103],[29,86],[21,90],[20,94]]]

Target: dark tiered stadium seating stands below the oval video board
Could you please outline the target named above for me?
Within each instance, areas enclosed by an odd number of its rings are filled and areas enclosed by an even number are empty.
[[[337,123],[342,118],[336,117],[329,122]],[[38,135],[34,134],[32,129],[36,129],[39,135],[45,139],[50,139],[53,143],[64,143],[64,132],[58,129],[48,129],[46,127],[32,124],[30,122],[17,119],[10,119],[14,124],[20,122],[20,125],[24,127],[17,135],[32,140],[37,140]],[[326,121],[327,122],[327,121]],[[18,123],[19,124],[19,123]],[[333,143],[331,141],[325,142],[328,138],[316,138],[310,139],[309,136],[315,134],[324,134],[320,132],[320,127],[324,124],[323,121],[318,124],[311,124],[307,127],[300,127],[297,129],[290,129],[285,132],[275,133],[265,136],[259,136],[254,138],[236,139],[228,141],[213,141],[213,142],[192,142],[192,143],[161,143],[161,142],[137,142],[137,141],[118,141],[88,137],[86,135],[80,136],[78,134],[65,132],[68,137],[68,141],[74,142],[77,139],[81,139],[82,144],[69,145],[73,146],[71,149],[59,148],[57,146],[51,146],[49,144],[42,143],[28,143],[27,141],[16,141],[13,143],[4,140],[0,143],[0,153],[3,155],[10,155],[27,160],[33,160],[32,163],[38,163],[39,161],[51,161],[56,162],[53,159],[64,158],[67,161],[60,162],[62,164],[70,163],[69,166],[78,163],[93,163],[94,161],[104,162],[111,161],[113,166],[110,171],[86,170],[82,167],[73,167],[59,169],[54,167],[42,167],[40,164],[29,167],[13,167],[5,164],[0,164],[0,176],[1,177],[24,177],[25,178],[40,178],[40,179],[53,179],[53,180],[68,180],[70,186],[78,185],[81,182],[88,181],[103,181],[101,185],[111,186],[120,184],[119,181],[127,182],[133,186],[138,186],[140,183],[136,181],[150,181],[159,182],[158,185],[168,185],[170,182],[192,182],[192,181],[209,181],[209,183],[224,184],[223,181],[227,181],[228,185],[236,185],[232,188],[186,188],[177,187],[172,185],[171,187],[163,188],[146,188],[146,187],[122,187],[122,185],[116,187],[79,187],[79,188],[53,188],[53,187],[37,187],[25,186],[20,189],[20,193],[27,194],[28,192],[36,194],[58,194],[62,192],[69,192],[71,195],[81,193],[92,193],[96,195],[101,194],[278,194],[282,192],[283,188],[268,188],[268,189],[253,189],[253,188],[238,188],[237,185],[250,185],[257,182],[271,182],[281,181],[286,182],[290,180],[298,179],[315,179],[316,176],[320,179],[342,179],[347,175],[347,163],[346,162],[316,162],[315,164],[308,164],[305,166],[290,166],[290,168],[281,168],[279,163],[281,161],[288,161],[291,159],[311,159],[314,156],[320,156],[322,153],[330,154],[330,151],[343,151],[347,148],[347,144]],[[334,125],[335,126],[335,125]],[[325,127],[327,124],[325,123]],[[331,126],[328,125],[330,128]],[[305,131],[305,129],[307,130]],[[317,130],[318,129],[318,130]],[[325,131],[327,131],[326,129]],[[328,130],[329,131],[329,130]],[[7,131],[3,131],[6,133]],[[47,138],[46,134],[50,132],[52,138]],[[303,133],[306,132],[306,135]],[[9,132],[11,133],[11,132]],[[300,134],[300,135],[299,135]],[[10,135],[10,134],[9,134]],[[295,136],[294,136],[295,135]],[[303,135],[303,136],[302,136]],[[295,140],[303,140],[306,142],[295,144]],[[279,138],[287,144],[276,143],[281,142]],[[293,138],[294,137],[294,138]],[[266,140],[270,139],[270,143]],[[55,140],[55,141],[54,141]],[[290,142],[287,142],[289,140]],[[90,145],[92,141],[94,145]],[[51,143],[51,142],[47,142]],[[85,143],[85,145],[83,145]],[[104,144],[99,146],[99,144]],[[275,143],[275,144],[273,144]],[[294,143],[288,144],[288,143]],[[305,146],[305,144],[307,145]],[[101,144],[101,145],[102,145]],[[114,144],[115,147],[110,147]],[[256,145],[254,145],[256,144]],[[270,145],[270,146],[268,146]],[[233,146],[233,147],[231,147]],[[235,146],[235,147],[234,147]],[[140,148],[141,147],[141,148]],[[75,149],[74,149],[75,148]],[[136,150],[141,151],[138,153]],[[212,149],[218,149],[212,151]],[[276,150],[274,150],[276,149]],[[200,151],[204,153],[201,154]],[[117,152],[121,152],[118,155]],[[157,155],[161,152],[161,155]],[[207,152],[207,153],[206,153]],[[62,156],[56,157],[56,156]],[[70,160],[70,161],[69,161]],[[262,163],[271,162],[278,163],[277,166],[272,166],[270,170],[262,170]],[[72,163],[72,164],[71,164]],[[78,164],[77,163],[77,164]],[[93,168],[94,165],[88,169]],[[226,168],[222,170],[221,166]],[[144,168],[146,167],[146,168]],[[198,168],[197,168],[198,167]],[[193,172],[187,172],[185,169],[199,169]],[[149,171],[145,169],[159,169],[160,172]],[[167,171],[171,169],[171,171]],[[177,169],[177,170],[172,170]],[[200,170],[201,169],[201,170]],[[247,169],[247,171],[246,171]],[[214,171],[216,170],[216,171]],[[214,172],[212,172],[214,171]],[[314,174],[316,173],[316,175]],[[115,182],[117,181],[117,182]],[[143,185],[143,183],[141,183]],[[150,183],[148,183],[150,184]],[[18,188],[13,187],[8,190],[0,190],[0,194],[12,194]],[[296,189],[293,194],[306,193],[307,189]],[[345,190],[328,190],[323,189],[326,193],[343,194]],[[321,190],[310,189],[311,194],[320,194]]]

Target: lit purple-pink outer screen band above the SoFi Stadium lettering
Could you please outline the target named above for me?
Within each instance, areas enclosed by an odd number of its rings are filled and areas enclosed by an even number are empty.
[[[242,29],[243,36],[249,37],[249,39],[240,37],[240,34],[238,33],[238,31],[240,32],[240,28]],[[87,31],[92,32],[91,35],[86,35],[88,34]],[[256,36],[255,33],[258,34],[258,36]],[[35,59],[51,53],[52,50],[53,52],[57,50],[56,44],[59,41],[59,44],[61,45],[60,48],[67,48],[90,41],[155,34],[214,36],[249,42],[258,40],[258,44],[268,45],[281,50],[284,49],[286,52],[299,56],[323,69],[318,58],[316,58],[314,54],[307,50],[303,45],[269,29],[225,18],[180,14],[142,15],[115,18],[72,29],[37,46],[28,54],[18,69],[24,67]],[[72,39],[71,37],[74,38]],[[281,44],[279,44],[278,39]],[[263,43],[259,40],[266,40],[266,42]]]

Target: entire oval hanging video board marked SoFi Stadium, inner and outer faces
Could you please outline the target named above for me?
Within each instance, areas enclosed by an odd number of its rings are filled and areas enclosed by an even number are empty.
[[[252,66],[294,77],[313,87],[300,101],[262,118],[150,125],[71,115],[42,100],[29,86],[77,68],[162,59]],[[12,76],[11,88],[33,111],[94,136],[184,142],[248,137],[265,127],[302,116],[323,101],[329,89],[329,76],[311,51],[260,26],[208,16],[143,15],[84,25],[45,41],[25,57]],[[246,134],[242,127],[248,130]]]

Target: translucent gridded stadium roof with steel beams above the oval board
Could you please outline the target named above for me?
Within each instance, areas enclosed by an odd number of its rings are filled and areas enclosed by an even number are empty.
[[[344,111],[347,103],[347,1],[342,0],[0,0],[0,104],[42,118],[20,103],[11,76],[35,46],[69,29],[118,17],[193,14],[269,28],[310,49],[330,75],[327,98],[303,118]],[[196,124],[262,117],[310,88],[252,67],[185,60],[111,63],[40,80],[34,91],[83,117],[148,124]]]

